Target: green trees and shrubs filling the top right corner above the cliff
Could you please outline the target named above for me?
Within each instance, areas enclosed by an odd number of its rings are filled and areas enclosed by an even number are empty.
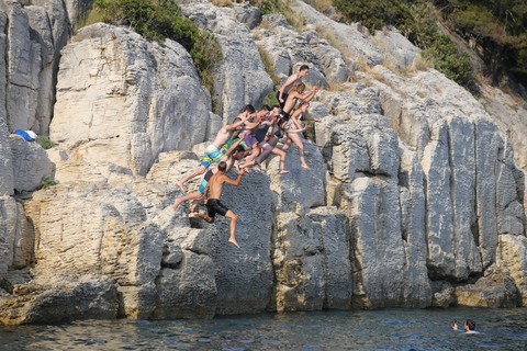
[[[505,64],[527,86],[525,0],[334,0],[333,4],[348,21],[359,21],[370,30],[395,25],[425,49],[424,57],[436,69],[471,89],[474,75],[469,55],[441,34],[440,21],[484,53],[491,76],[497,76]]]

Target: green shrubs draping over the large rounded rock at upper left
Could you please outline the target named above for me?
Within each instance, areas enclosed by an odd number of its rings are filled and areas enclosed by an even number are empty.
[[[160,43],[171,38],[192,56],[201,82],[214,97],[212,69],[222,59],[220,44],[211,33],[200,31],[175,0],[96,0],[93,10],[103,22],[130,25],[146,38]],[[217,105],[213,99],[213,110]]]

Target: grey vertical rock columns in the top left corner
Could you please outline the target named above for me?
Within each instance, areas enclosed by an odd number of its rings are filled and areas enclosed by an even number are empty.
[[[7,20],[0,20],[7,33],[0,39],[7,57],[0,70],[7,78],[8,127],[47,135],[60,49],[69,38],[66,8],[59,0],[36,0],[27,7],[7,0],[0,3],[0,13]]]

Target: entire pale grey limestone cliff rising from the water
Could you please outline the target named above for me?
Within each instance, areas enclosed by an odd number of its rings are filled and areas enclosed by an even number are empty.
[[[224,56],[213,113],[178,43],[102,23],[71,36],[89,4],[0,2],[0,322],[527,304],[520,98],[482,87],[476,100],[419,69],[396,30],[370,34],[301,1],[301,29],[187,1]],[[270,158],[225,189],[236,249],[228,220],[171,205],[203,143],[273,90],[258,47],[282,79],[311,67],[322,123],[304,140],[312,170],[292,147],[290,173]],[[60,183],[37,190],[45,174]]]

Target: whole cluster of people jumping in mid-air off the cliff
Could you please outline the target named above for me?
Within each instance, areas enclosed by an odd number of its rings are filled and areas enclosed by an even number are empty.
[[[247,105],[244,111],[234,118],[233,123],[223,126],[214,141],[205,149],[205,156],[193,172],[177,182],[184,193],[183,184],[200,174],[205,173],[199,190],[176,199],[173,211],[184,201],[192,200],[189,217],[201,217],[208,223],[213,223],[216,214],[231,220],[231,236],[228,241],[239,248],[235,238],[237,216],[220,202],[224,183],[237,186],[242,176],[248,172],[247,168],[260,166],[270,154],[280,157],[280,173],[289,173],[285,170],[285,150],[294,143],[299,149],[301,165],[310,169],[304,159],[304,146],[298,133],[307,128],[302,121],[321,120],[307,115],[310,100],[318,92],[314,87],[311,91],[304,92],[305,84],[302,78],[307,76],[310,67],[303,65],[298,73],[293,73],[277,92],[279,104],[269,107],[264,105],[259,112],[253,105]],[[294,106],[299,103],[296,110]],[[278,143],[285,138],[282,145]],[[245,163],[238,165],[245,159]],[[210,166],[218,162],[217,167],[209,170]],[[236,165],[238,178],[232,180],[226,172]],[[195,207],[205,202],[208,214],[203,215],[195,211]]]

